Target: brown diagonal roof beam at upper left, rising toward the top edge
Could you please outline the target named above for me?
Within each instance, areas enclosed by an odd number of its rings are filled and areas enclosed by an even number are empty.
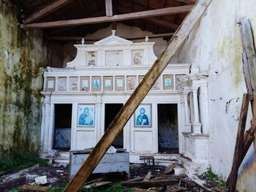
[[[42,8],[41,10],[34,12],[32,15],[29,16],[29,18],[26,18],[23,20],[24,24],[34,22],[36,20],[39,20],[40,18],[45,17],[46,15],[49,15],[50,13],[56,11],[57,9],[60,9],[66,4],[69,4],[73,0],[59,0],[55,1],[52,4],[49,4],[48,6]]]

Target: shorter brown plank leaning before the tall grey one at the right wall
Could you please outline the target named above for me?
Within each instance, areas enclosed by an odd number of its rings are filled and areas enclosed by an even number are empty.
[[[238,169],[240,166],[239,161],[241,160],[241,155],[243,154],[244,151],[244,131],[246,128],[246,120],[250,99],[251,95],[248,93],[244,93],[238,123],[235,151],[233,155],[233,164],[230,172],[230,177],[228,180],[228,191],[236,191],[236,181],[238,176]]]

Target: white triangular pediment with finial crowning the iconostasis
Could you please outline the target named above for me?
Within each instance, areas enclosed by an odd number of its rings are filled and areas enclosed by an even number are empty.
[[[105,39],[101,39],[98,42],[94,42],[94,45],[131,45],[132,42],[116,36],[116,31],[112,31],[112,35],[110,37],[106,37]]]

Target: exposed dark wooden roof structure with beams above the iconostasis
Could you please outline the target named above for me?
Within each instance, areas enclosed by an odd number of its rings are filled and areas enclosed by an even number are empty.
[[[14,0],[23,28],[44,28],[48,37],[74,39],[116,22],[153,34],[176,31],[195,0]],[[156,16],[157,15],[157,16]],[[118,29],[117,29],[118,31]],[[169,34],[169,35],[167,35]],[[168,37],[169,36],[169,37]],[[69,37],[69,38],[63,38]],[[53,38],[54,39],[54,38]]]

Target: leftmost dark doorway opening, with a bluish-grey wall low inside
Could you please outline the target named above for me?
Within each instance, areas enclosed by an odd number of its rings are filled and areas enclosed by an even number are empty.
[[[53,149],[70,150],[72,104],[55,104]]]

